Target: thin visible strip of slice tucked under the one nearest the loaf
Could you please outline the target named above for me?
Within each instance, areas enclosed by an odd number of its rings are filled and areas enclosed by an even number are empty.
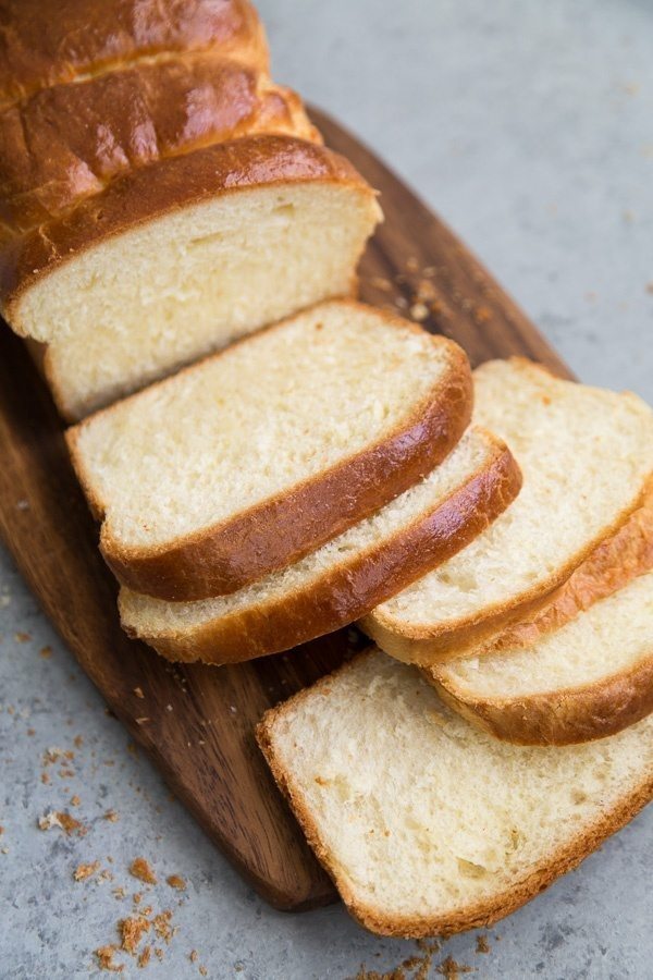
[[[424,480],[294,565],[238,592],[163,602],[123,589],[123,626],[172,660],[233,663],[345,626],[464,547],[519,490],[506,446],[466,432]]]

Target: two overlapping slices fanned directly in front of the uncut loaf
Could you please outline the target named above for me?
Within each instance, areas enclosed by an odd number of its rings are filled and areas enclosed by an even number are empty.
[[[126,629],[220,664],[371,612],[519,490],[471,409],[460,347],[337,301],[70,429]]]

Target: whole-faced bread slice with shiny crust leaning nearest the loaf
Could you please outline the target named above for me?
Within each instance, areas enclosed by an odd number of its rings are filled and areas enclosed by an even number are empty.
[[[102,553],[139,592],[235,591],[412,486],[471,414],[464,352],[334,302],[69,430]]]

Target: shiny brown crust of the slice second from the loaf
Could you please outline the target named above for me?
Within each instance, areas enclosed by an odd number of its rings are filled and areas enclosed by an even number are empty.
[[[178,635],[140,639],[171,660],[236,663],[287,650],[352,623],[383,598],[464,548],[516,497],[521,474],[495,441],[491,462],[431,513],[311,583],[283,602],[269,601]],[[136,635],[134,630],[127,632]]]

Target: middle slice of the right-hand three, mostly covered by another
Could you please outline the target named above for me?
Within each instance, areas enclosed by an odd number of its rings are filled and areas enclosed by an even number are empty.
[[[531,646],[424,673],[497,738],[569,745],[614,735],[653,711],[653,572]]]

